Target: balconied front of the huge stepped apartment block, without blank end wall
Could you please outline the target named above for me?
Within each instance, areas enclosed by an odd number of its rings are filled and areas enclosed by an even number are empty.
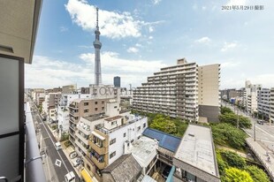
[[[133,109],[198,121],[198,65],[179,59],[133,90]]]

